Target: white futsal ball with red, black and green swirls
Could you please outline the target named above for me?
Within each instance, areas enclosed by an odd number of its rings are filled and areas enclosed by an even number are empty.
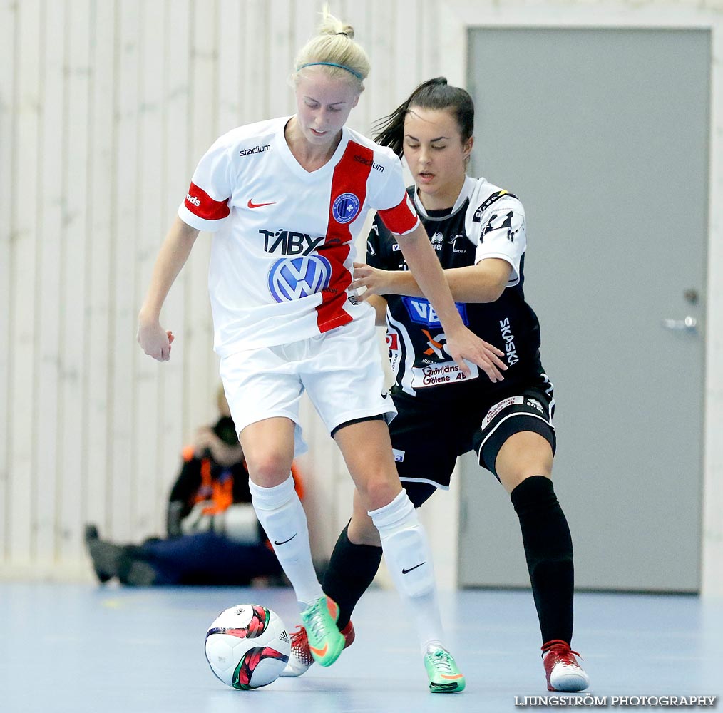
[[[213,620],[205,652],[217,678],[250,691],[278,678],[291,654],[291,642],[278,614],[257,604],[239,604]]]

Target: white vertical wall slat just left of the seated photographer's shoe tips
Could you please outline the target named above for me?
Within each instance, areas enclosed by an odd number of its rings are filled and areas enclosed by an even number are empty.
[[[82,431],[86,403],[85,264],[87,230],[88,97],[90,87],[90,0],[74,0],[66,17],[67,72],[64,131],[63,276],[61,279],[61,468],[59,489],[59,553],[78,557],[87,474],[86,434]]]

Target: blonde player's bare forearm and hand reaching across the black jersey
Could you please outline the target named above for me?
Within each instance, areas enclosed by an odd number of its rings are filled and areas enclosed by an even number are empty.
[[[502,372],[507,369],[500,359],[503,356],[502,351],[482,341],[463,324],[442,265],[437,260],[422,223],[418,223],[411,233],[397,236],[397,242],[419,288],[440,318],[447,338],[447,351],[457,362],[461,372],[469,375],[469,366],[465,363],[467,359],[481,367],[492,383],[501,381]]]

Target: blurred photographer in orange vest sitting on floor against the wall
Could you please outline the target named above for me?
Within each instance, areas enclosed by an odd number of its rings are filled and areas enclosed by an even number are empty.
[[[94,524],[85,542],[101,583],[248,585],[283,580],[281,565],[254,513],[244,451],[218,390],[217,421],[197,430],[168,499],[166,538],[141,545],[100,539]],[[301,481],[294,473],[296,490]]]

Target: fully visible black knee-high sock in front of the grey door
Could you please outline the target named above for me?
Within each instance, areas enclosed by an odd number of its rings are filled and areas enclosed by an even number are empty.
[[[573,636],[573,542],[552,480],[534,475],[510,495],[515,506],[542,643]]]

